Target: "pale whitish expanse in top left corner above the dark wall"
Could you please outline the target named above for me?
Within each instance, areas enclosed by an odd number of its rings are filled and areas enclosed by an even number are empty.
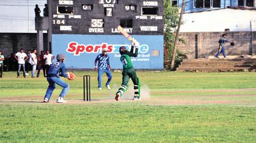
[[[35,5],[43,9],[46,0],[0,0],[0,33],[36,33]]]

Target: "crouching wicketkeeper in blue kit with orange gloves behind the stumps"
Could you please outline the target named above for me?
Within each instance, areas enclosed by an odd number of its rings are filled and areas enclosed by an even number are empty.
[[[60,85],[63,89],[60,93],[59,98],[57,98],[57,103],[66,103],[64,96],[69,91],[69,84],[65,83],[60,79],[60,76],[64,76],[68,79],[74,79],[75,75],[73,73],[65,72],[65,56],[63,54],[58,54],[56,57],[57,61],[50,65],[49,72],[47,73],[47,81],[49,83],[48,89],[46,90],[44,103],[49,103],[52,92],[56,88],[56,85]]]

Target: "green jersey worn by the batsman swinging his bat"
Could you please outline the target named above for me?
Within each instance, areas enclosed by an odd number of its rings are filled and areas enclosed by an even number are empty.
[[[133,46],[131,48],[131,51],[125,51],[124,54],[121,55],[121,62],[123,63],[123,69],[131,68],[133,67],[131,57],[137,57],[138,55],[138,48],[135,49],[135,53],[133,53]]]

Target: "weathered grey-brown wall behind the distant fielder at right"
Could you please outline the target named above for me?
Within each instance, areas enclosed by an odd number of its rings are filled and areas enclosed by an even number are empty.
[[[187,53],[189,58],[207,58],[215,55],[219,48],[219,39],[224,32],[188,32],[180,33],[180,37],[185,39],[185,44],[179,43],[178,50]],[[256,32],[229,32],[227,39],[233,40],[235,46],[226,43],[227,55],[255,55]]]

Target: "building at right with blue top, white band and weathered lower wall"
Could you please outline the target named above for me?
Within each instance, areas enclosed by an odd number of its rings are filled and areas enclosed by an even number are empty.
[[[215,55],[222,34],[236,45],[227,45],[228,55],[256,54],[256,6],[255,0],[194,0],[185,2],[185,13],[180,35],[185,44],[178,49],[189,58],[207,58]],[[173,6],[182,1],[172,1]]]

